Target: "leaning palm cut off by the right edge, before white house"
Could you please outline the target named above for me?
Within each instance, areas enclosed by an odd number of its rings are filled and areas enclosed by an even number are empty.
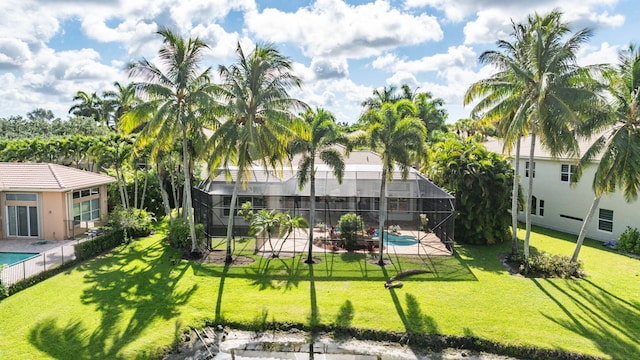
[[[640,49],[631,44],[619,54],[617,71],[609,91],[613,106],[606,131],[580,159],[577,174],[600,155],[593,177],[595,198],[582,223],[571,261],[578,261],[587,228],[603,194],[622,189],[627,202],[635,201],[640,191]]]

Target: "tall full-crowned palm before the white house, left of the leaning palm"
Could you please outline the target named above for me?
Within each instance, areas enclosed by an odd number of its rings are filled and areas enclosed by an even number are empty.
[[[570,34],[554,10],[547,15],[530,15],[526,24],[514,24],[512,42],[499,41],[502,51],[487,51],[480,57],[493,64],[498,73],[468,90],[466,103],[482,97],[476,109],[486,117],[504,122],[505,143],[513,144],[528,133],[531,137],[529,163],[533,164],[536,138],[553,157],[577,154],[578,125],[592,104],[598,103],[595,82],[590,76],[596,68],[576,64],[576,53],[591,36],[590,29]],[[565,40],[566,39],[566,40]],[[515,181],[515,180],[514,180]],[[533,176],[529,176],[527,207],[533,197]],[[525,264],[529,258],[531,212],[525,209]]]

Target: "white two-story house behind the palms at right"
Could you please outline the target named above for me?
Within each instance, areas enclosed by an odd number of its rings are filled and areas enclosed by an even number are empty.
[[[583,171],[579,182],[572,184],[570,180],[579,159],[553,158],[539,140],[535,145],[533,164],[529,163],[531,138],[523,137],[520,145],[519,174],[525,194],[528,193],[529,176],[533,177],[533,198],[529,207],[531,223],[577,235],[595,197],[592,182],[599,159]],[[583,154],[590,142],[581,140],[579,145]],[[501,140],[490,140],[485,146],[489,151],[510,156],[515,163],[515,148],[503,149]],[[519,212],[518,219],[525,221],[523,211]],[[627,226],[640,228],[640,203],[627,203],[622,193],[616,191],[602,196],[586,236],[600,241],[616,240]]]

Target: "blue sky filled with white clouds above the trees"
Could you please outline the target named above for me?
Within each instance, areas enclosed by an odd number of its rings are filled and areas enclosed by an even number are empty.
[[[4,0],[0,117],[66,118],[78,90],[132,81],[125,64],[153,60],[163,26],[209,44],[203,65],[214,69],[235,61],[238,42],[275,44],[303,79],[292,95],[341,122],[356,121],[373,89],[404,83],[442,98],[454,122],[468,117],[469,84],[493,71],[478,56],[508,39],[512,20],[556,8],[573,31],[595,31],[581,64],[614,63],[640,43],[637,0]]]

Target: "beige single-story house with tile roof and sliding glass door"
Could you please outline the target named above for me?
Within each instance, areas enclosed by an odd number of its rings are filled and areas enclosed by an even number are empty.
[[[115,181],[57,164],[0,162],[0,240],[74,237],[104,219]]]

